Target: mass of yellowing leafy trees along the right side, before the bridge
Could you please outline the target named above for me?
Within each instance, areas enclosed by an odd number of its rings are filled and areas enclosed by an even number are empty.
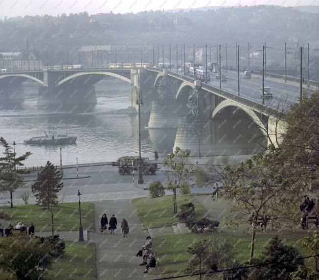
[[[258,228],[271,224],[273,229],[296,230],[303,196],[309,191],[318,191],[319,90],[304,93],[298,103],[280,114],[280,121],[284,121],[285,129],[275,130],[275,137],[268,135],[276,140],[266,151],[254,154],[237,166],[211,165],[196,173],[197,182],[202,186],[219,182],[223,198],[233,202],[225,223],[232,229],[246,225],[251,233],[250,264],[255,263]],[[318,236],[315,239],[318,244]],[[314,257],[317,263],[318,255]],[[305,269],[300,268],[299,273]]]

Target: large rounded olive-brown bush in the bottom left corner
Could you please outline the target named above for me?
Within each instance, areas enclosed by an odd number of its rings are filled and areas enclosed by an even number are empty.
[[[50,243],[44,244],[38,237],[26,239],[20,232],[14,233],[5,238],[5,242],[0,242],[0,267],[4,272],[16,275],[17,279],[38,279],[35,267],[41,261],[47,270],[52,263],[50,252],[53,249]]]

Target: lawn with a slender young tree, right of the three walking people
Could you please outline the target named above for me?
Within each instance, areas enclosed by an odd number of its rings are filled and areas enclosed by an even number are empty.
[[[196,217],[206,214],[205,208],[192,194],[178,194],[177,208],[182,204],[192,202],[195,205]],[[142,223],[143,228],[170,226],[179,219],[173,213],[173,195],[164,195],[158,198],[140,197],[133,200],[134,207]]]

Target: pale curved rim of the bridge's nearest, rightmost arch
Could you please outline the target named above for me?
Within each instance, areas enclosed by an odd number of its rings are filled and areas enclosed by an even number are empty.
[[[230,106],[237,107],[237,108],[243,110],[258,125],[263,136],[267,137],[267,128],[262,123],[262,121],[259,119],[257,114],[253,110],[251,110],[248,106],[246,106],[242,103],[239,103],[237,101],[231,100],[231,99],[226,99],[216,106],[216,108],[214,109],[214,111],[212,113],[212,119],[218,114],[218,112],[220,112],[224,108],[230,107]]]

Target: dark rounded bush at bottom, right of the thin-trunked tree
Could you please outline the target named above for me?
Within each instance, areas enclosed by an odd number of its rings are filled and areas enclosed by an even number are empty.
[[[262,256],[254,260],[255,264],[269,264],[258,267],[249,279],[289,280],[290,273],[304,263],[301,257],[294,246],[284,245],[278,236],[275,236],[267,244]]]

